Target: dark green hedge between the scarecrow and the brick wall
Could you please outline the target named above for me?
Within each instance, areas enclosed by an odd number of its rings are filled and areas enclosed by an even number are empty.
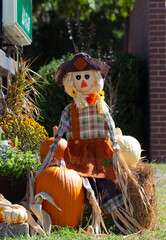
[[[148,90],[146,63],[138,56],[117,53],[111,74],[117,89],[117,113],[114,120],[124,135],[136,137],[142,147],[148,142]]]

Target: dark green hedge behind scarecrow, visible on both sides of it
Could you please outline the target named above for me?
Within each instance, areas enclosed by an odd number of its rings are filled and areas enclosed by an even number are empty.
[[[52,127],[59,123],[62,110],[71,101],[71,98],[64,92],[64,88],[55,85],[54,74],[57,67],[72,56],[68,54],[62,59],[54,59],[40,70],[40,74],[44,75],[49,82],[49,84],[43,82],[46,93],[43,91],[42,94],[45,96],[45,101],[40,101],[39,107],[43,117],[42,124],[50,136],[52,136]],[[146,64],[139,57],[123,53],[116,53],[114,60],[111,89],[108,87],[109,84],[105,84],[106,102],[109,102],[110,94],[113,94],[112,102],[116,102],[113,111],[116,126],[122,129],[123,134],[136,137],[144,145],[147,136]],[[110,73],[106,80],[107,83],[109,76]]]

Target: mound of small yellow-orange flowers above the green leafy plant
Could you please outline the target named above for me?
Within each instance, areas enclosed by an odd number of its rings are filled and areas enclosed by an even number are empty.
[[[19,149],[26,152],[36,152],[41,143],[48,137],[43,126],[37,123],[34,118],[20,114],[15,118],[11,114],[0,117],[0,126],[3,127],[6,138],[13,144],[18,137]]]

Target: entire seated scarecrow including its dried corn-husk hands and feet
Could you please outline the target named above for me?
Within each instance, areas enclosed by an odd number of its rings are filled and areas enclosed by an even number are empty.
[[[110,214],[119,229],[127,234],[143,229],[133,215],[127,190],[129,180],[145,209],[149,201],[120,151],[115,124],[104,101],[103,87],[108,71],[108,65],[85,53],[76,54],[58,67],[55,82],[64,86],[73,101],[62,112],[50,151],[54,153],[66,133],[66,166],[82,177],[92,205],[93,222],[88,231],[99,234],[100,222],[106,229],[98,203],[101,198],[103,212]],[[49,164],[48,159],[45,162]]]

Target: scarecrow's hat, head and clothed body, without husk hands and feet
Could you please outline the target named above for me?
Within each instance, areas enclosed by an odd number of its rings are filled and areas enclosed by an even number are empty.
[[[64,85],[73,101],[62,112],[54,140],[56,144],[67,132],[66,166],[86,177],[86,185],[97,195],[105,195],[102,205],[107,213],[123,204],[114,183],[113,151],[119,149],[115,124],[104,101],[108,70],[105,63],[84,53],[60,65],[55,82]]]

